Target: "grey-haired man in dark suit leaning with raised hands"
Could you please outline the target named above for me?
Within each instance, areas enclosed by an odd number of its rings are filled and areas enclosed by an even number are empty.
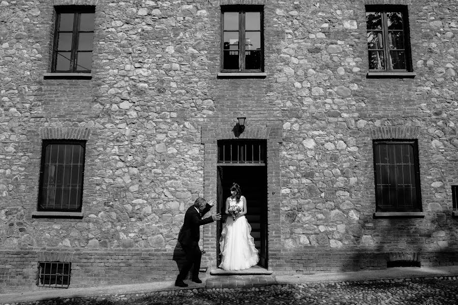
[[[208,212],[214,204],[215,200],[211,200],[209,203],[207,203],[204,198],[199,197],[186,211],[183,227],[178,234],[178,241],[180,242],[181,248],[186,254],[186,263],[184,264],[183,269],[181,269],[177,280],[175,281],[175,286],[188,286],[188,284],[183,282],[183,280],[186,278],[186,275],[188,274],[193,264],[194,267],[192,268],[191,280],[195,283],[202,283],[202,281],[199,279],[199,269],[201,268],[202,258],[201,249],[198,245],[199,239],[201,237],[199,227],[221,219],[221,215],[219,214],[202,219],[202,216],[205,215],[206,212]]]

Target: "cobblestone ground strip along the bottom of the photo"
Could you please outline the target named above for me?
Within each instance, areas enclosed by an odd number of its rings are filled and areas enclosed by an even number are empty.
[[[271,285],[253,288],[193,289],[151,294],[54,299],[16,305],[156,304],[458,304],[455,281],[380,280],[352,283]],[[11,304],[10,304],[11,305]]]

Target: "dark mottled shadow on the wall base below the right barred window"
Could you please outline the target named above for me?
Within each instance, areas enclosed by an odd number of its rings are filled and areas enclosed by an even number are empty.
[[[437,213],[426,224],[415,218],[378,219],[371,222],[374,228],[370,232],[364,232],[364,223],[358,240],[361,248],[344,269],[385,269],[388,262],[392,266],[456,265],[457,222]]]

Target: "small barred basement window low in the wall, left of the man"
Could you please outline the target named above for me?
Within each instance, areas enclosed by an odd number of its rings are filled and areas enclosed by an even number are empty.
[[[71,263],[40,262],[38,265],[39,287],[68,288]]]

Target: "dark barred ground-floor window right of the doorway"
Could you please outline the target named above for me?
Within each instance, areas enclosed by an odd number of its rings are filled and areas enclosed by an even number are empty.
[[[417,141],[374,141],[377,212],[421,211]]]

